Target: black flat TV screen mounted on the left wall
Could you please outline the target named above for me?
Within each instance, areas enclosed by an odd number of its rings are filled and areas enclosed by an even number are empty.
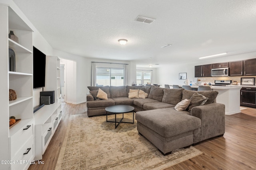
[[[46,55],[33,46],[33,88],[45,86]]]

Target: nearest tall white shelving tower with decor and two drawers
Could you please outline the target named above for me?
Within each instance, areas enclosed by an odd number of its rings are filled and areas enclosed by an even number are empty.
[[[18,164],[16,160],[34,159],[33,115],[33,45],[32,29],[8,4],[0,3],[0,169],[24,170],[30,164]],[[19,38],[16,43],[8,38],[10,31]],[[16,56],[16,71],[9,71],[8,49]],[[9,101],[9,89],[15,90],[17,99]],[[9,128],[9,117],[21,119]],[[9,161],[9,162],[8,162]]]

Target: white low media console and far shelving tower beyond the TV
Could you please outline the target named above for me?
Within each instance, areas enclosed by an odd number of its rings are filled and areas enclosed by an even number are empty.
[[[60,103],[60,59],[46,56],[44,91],[54,91],[54,104],[45,105],[34,113],[36,149],[34,160],[41,160],[62,118]]]

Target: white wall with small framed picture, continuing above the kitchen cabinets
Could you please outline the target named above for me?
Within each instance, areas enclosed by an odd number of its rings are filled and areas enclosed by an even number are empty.
[[[194,66],[196,65],[223,63],[228,61],[239,61],[253,58],[256,58],[256,52],[227,57],[218,57],[207,60],[204,59],[194,63],[182,63],[182,61],[180,63],[169,63],[166,65],[161,65],[161,67],[157,68],[156,71],[158,84],[184,84],[185,80],[179,80],[178,75],[180,72],[186,72],[187,79],[189,79],[189,81],[192,81],[194,84],[194,82],[196,82],[196,78],[194,77]]]

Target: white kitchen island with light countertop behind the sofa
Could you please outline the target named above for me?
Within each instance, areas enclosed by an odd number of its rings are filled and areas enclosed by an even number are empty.
[[[172,85],[170,85],[172,86]],[[182,85],[179,85],[182,87]],[[196,90],[198,86],[192,85],[191,88]],[[225,114],[232,115],[234,113],[240,113],[240,89],[241,86],[211,86],[212,90],[218,91],[219,94],[216,98],[217,103],[225,105]]]

